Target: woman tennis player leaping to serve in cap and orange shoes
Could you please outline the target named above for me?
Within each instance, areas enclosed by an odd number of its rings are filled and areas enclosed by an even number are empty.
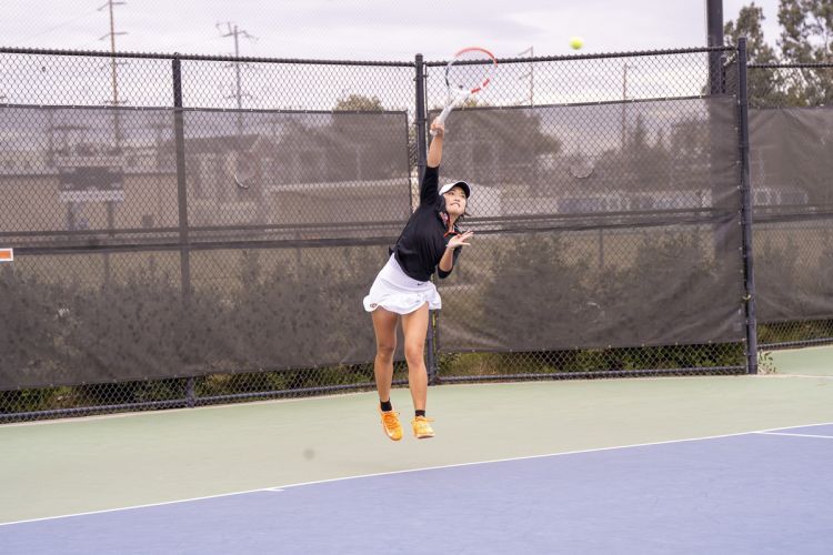
[[[441,189],[438,186],[445,134],[442,121],[434,119],[431,132],[434,138],[420,186],[420,205],[408,220],[391,258],[370,287],[370,294],[364,297],[364,310],[373,317],[377,335],[373,374],[379,391],[379,412],[382,427],[393,441],[402,438],[399,414],[393,411],[390,401],[397,323],[402,320],[405,339],[408,384],[415,411],[411,421],[413,435],[420,440],[433,437],[431,421],[425,417],[428,372],[423,352],[429,310],[439,310],[442,301],[431,282],[431,275],[436,271],[441,279],[448,278],[462,246],[469,244],[466,241],[473,234],[471,231],[461,232],[458,228],[460,218],[465,213],[471,188],[465,181],[448,183]]]

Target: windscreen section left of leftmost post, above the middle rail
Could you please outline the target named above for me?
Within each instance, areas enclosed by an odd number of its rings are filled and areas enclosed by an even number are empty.
[[[0,127],[9,193],[0,231],[12,244],[175,239],[171,110],[7,107]]]

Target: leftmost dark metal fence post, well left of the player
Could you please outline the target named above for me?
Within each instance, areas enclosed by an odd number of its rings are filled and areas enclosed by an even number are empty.
[[[171,62],[173,70],[173,139],[177,149],[177,204],[179,206],[179,259],[182,287],[182,310],[191,306],[191,251],[188,236],[188,189],[185,183],[185,129],[182,114],[182,63],[179,54]],[[185,404],[194,406],[194,380],[190,377],[185,391]]]

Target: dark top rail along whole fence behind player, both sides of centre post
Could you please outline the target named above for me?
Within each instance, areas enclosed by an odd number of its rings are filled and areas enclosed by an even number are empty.
[[[699,52],[731,52],[733,47],[699,47],[666,50],[644,50],[634,52],[601,52],[593,54],[568,54],[568,56],[539,56],[532,58],[500,58],[501,63],[529,63],[564,60],[594,60],[604,58],[633,58],[649,56],[688,54]],[[301,58],[253,58],[233,56],[209,56],[209,54],[182,54],[179,52],[106,52],[100,50],[58,50],[39,48],[8,48],[0,47],[3,54],[40,54],[40,56],[68,56],[68,57],[93,57],[93,58],[143,58],[157,60],[189,60],[189,61],[218,61],[218,62],[252,62],[252,63],[285,63],[285,64],[311,64],[311,65],[368,65],[390,68],[414,68],[415,61],[361,61],[361,60],[312,60]],[[416,54],[421,56],[421,54]],[[429,67],[445,65],[448,60],[424,62]]]

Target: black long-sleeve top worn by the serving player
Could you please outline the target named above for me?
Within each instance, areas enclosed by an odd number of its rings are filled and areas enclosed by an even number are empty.
[[[411,214],[393,248],[399,266],[416,281],[430,280],[434,271],[440,279],[449,276],[451,271],[443,272],[438,264],[449,240],[460,233],[456,224],[454,232],[448,233],[445,199],[439,192],[439,168],[425,168],[420,185],[420,205]],[[454,249],[452,270],[460,251],[460,246]]]

